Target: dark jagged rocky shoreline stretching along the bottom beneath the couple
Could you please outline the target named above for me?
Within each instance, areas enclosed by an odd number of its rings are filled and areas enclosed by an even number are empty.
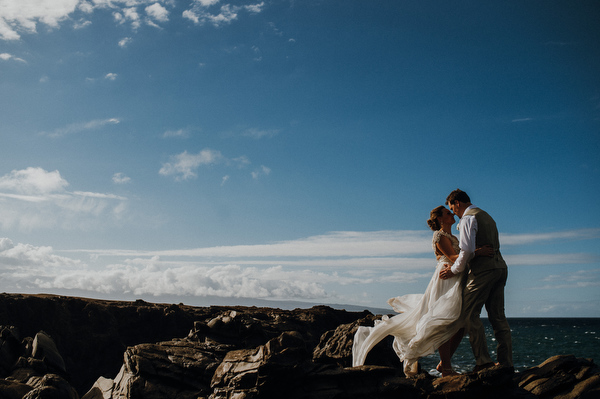
[[[0,294],[0,398],[600,397],[600,368],[575,356],[518,373],[405,378],[388,340],[350,367],[354,332],[376,318]]]

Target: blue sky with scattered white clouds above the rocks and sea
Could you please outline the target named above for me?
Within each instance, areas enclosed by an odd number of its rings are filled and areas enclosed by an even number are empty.
[[[387,308],[491,213],[600,317],[594,1],[0,0],[0,291]],[[285,306],[285,305],[282,305]]]

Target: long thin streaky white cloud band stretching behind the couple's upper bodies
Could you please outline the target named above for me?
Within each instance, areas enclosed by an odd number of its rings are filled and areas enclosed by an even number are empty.
[[[224,181],[226,179],[224,178]],[[435,259],[429,231],[339,231],[291,241],[166,251],[93,251],[99,256],[191,259],[196,265],[285,266],[405,273],[431,270]],[[590,254],[505,255],[510,267],[593,264]],[[400,278],[400,277],[399,277]]]

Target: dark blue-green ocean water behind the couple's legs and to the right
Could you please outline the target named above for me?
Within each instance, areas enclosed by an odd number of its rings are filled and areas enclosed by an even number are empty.
[[[488,348],[496,360],[496,343],[491,325],[482,319],[486,327]],[[513,363],[515,371],[537,366],[554,355],[575,355],[594,359],[600,364],[600,318],[509,318],[512,331]],[[423,370],[438,375],[435,370],[440,361],[437,352],[420,359]],[[475,359],[464,337],[452,358],[454,370],[465,373],[473,370]]]

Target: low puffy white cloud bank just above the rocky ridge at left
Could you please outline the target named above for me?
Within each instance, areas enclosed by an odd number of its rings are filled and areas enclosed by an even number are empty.
[[[14,292],[83,290],[113,296],[190,295],[226,298],[323,299],[322,281],[339,279],[320,272],[267,269],[238,265],[177,265],[149,259],[94,268],[76,259],[58,256],[51,247],[14,245],[0,238],[0,289]]]

